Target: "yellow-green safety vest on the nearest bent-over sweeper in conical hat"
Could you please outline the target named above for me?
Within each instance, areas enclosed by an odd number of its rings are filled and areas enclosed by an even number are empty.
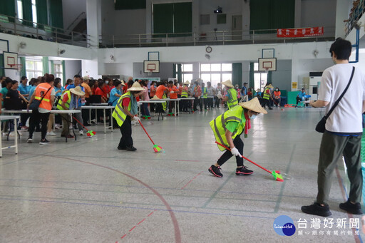
[[[209,123],[210,128],[212,128],[213,130],[215,140],[218,143],[225,145],[227,148],[230,148],[230,145],[227,142],[227,138],[225,138],[225,131],[226,131],[225,126],[227,125],[228,122],[233,121],[239,123],[235,132],[232,133],[232,140],[235,139],[237,135],[240,135],[243,132],[246,125],[245,116],[243,117],[242,120],[243,112],[244,108],[241,105],[236,105],[234,108],[227,110],[225,113],[219,115],[217,118],[215,118]],[[225,148],[223,148],[220,145],[218,145],[218,148],[221,151],[225,150]]]

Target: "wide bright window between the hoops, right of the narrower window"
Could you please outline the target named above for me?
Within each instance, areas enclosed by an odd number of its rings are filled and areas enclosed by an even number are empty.
[[[211,82],[212,86],[232,79],[232,63],[202,63],[200,64],[200,78],[204,83]]]

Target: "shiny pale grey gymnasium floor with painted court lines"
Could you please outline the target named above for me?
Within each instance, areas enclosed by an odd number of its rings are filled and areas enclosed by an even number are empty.
[[[0,158],[0,242],[362,242],[364,234],[350,229],[359,216],[338,207],[348,185],[343,162],[331,187],[333,227],[300,211],[317,194],[314,127],[324,110],[274,108],[252,120],[244,155],[292,177],[284,182],[247,161],[254,174],[238,177],[233,158],[223,177],[208,172],[222,153],[208,123],[223,112],[142,120],[163,153],[153,152],[140,125],[136,152],[117,150],[120,131],[104,134],[101,125],[91,127],[93,138],[51,137],[49,145],[28,144],[24,133],[19,154],[4,150]],[[280,215],[293,219],[291,237],[274,231]]]

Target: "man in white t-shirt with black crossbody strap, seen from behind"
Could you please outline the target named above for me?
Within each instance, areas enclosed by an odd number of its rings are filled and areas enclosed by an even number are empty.
[[[332,105],[344,92],[349,83],[353,66],[349,63],[351,42],[337,38],[329,49],[335,65],[327,68],[322,74],[318,100],[309,102],[312,107],[326,107],[329,112]],[[322,136],[319,150],[318,194],[313,205],[303,206],[302,211],[327,217],[329,211],[328,198],[331,189],[332,173],[341,156],[347,167],[351,182],[349,200],[340,203],[341,210],[351,214],[362,214],[361,191],[361,135],[362,113],[365,111],[365,74],[360,68],[354,71],[349,89],[334,108],[327,119],[326,130]]]

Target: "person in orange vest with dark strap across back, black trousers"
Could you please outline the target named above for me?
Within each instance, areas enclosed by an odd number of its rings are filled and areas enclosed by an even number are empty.
[[[47,123],[49,115],[51,114],[52,105],[54,103],[54,97],[56,92],[53,88],[54,76],[53,74],[46,73],[44,75],[46,82],[40,83],[36,87],[33,95],[31,95],[31,100],[29,100],[29,105],[33,102],[33,100],[41,100],[38,109],[33,110],[31,114],[30,124],[29,124],[29,138],[28,143],[33,143],[33,133],[36,128],[36,125],[41,122],[41,142],[39,144],[48,144],[49,141],[46,140],[47,134]]]

